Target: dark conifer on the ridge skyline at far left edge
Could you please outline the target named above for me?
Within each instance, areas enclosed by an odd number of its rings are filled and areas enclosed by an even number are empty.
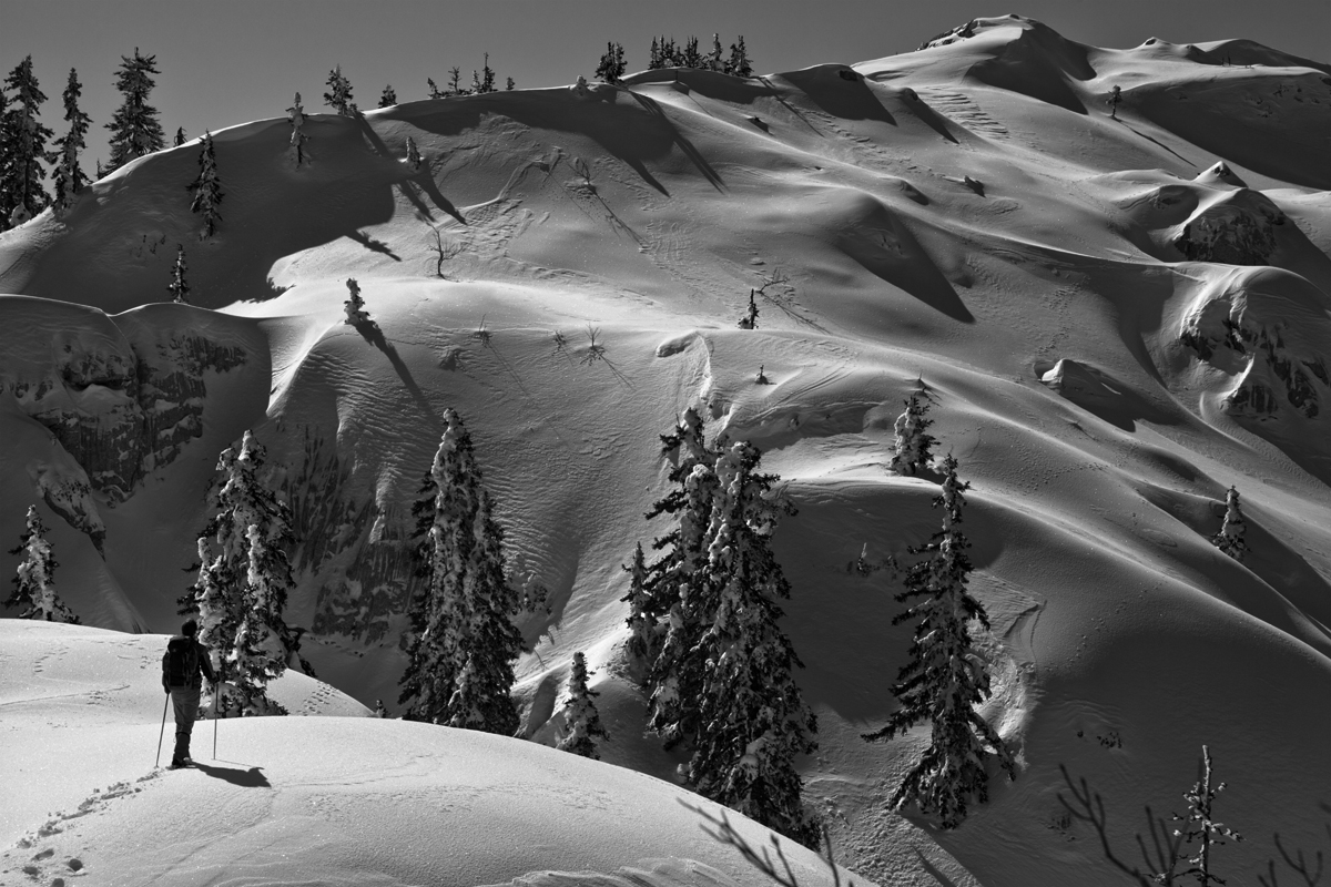
[[[47,160],[49,126],[41,125],[41,104],[45,93],[32,73],[32,56],[20,61],[4,78],[5,89],[13,89],[13,106],[0,120],[4,140],[4,165],[0,168],[0,191],[7,194],[8,226],[23,225],[49,203],[41,180],[47,173],[41,164]]]

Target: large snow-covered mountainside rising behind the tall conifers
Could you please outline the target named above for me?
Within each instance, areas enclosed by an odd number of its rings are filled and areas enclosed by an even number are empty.
[[[783,624],[841,862],[882,883],[1118,883],[1059,767],[1103,795],[1129,856],[1142,806],[1182,810],[1207,743],[1218,815],[1247,836],[1221,874],[1252,882],[1272,834],[1311,852],[1331,818],[1328,120],[1320,63],[1238,40],[1098,49],[1001,17],[853,66],[314,114],[299,168],[284,120],[222,129],[208,241],[197,141],[0,235],[0,539],[37,503],[75,612],[168,632],[217,452],[253,428],[299,537],[287,621],[321,678],[393,710],[410,504],[457,408],[514,581],[550,593],[522,625],[526,735],[559,734],[583,650],[604,759],[671,778],[624,660],[620,564],[663,532],[643,519],[659,435],[696,406],[800,509],[775,537]],[[197,307],[146,305],[177,243]],[[347,278],[367,323],[343,323]],[[928,731],[860,739],[892,711],[910,626],[888,570],[848,565],[940,524],[937,477],[886,469],[921,388],[973,483],[986,714],[1018,753],[953,832],[884,810]],[[1230,485],[1242,564],[1209,541]],[[544,755],[410,725],[222,727],[237,749],[390,749],[411,773],[415,743]]]

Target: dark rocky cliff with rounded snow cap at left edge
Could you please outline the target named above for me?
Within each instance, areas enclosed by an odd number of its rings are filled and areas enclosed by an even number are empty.
[[[0,354],[0,392],[51,432],[53,444],[28,473],[45,503],[98,549],[105,536],[98,503],[122,503],[202,435],[209,378],[252,359],[250,347],[216,336],[217,324],[198,317],[212,313],[150,307],[146,322],[0,297],[0,323],[28,332]],[[157,317],[161,309],[172,317]]]

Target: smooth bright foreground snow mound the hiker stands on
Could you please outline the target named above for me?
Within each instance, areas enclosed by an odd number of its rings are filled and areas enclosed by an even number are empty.
[[[708,835],[724,809],[675,786],[367,717],[302,674],[273,696],[318,717],[200,722],[198,767],[154,770],[165,637],[9,620],[0,640],[0,884],[769,883]],[[832,883],[815,854],[781,850],[800,883]]]

